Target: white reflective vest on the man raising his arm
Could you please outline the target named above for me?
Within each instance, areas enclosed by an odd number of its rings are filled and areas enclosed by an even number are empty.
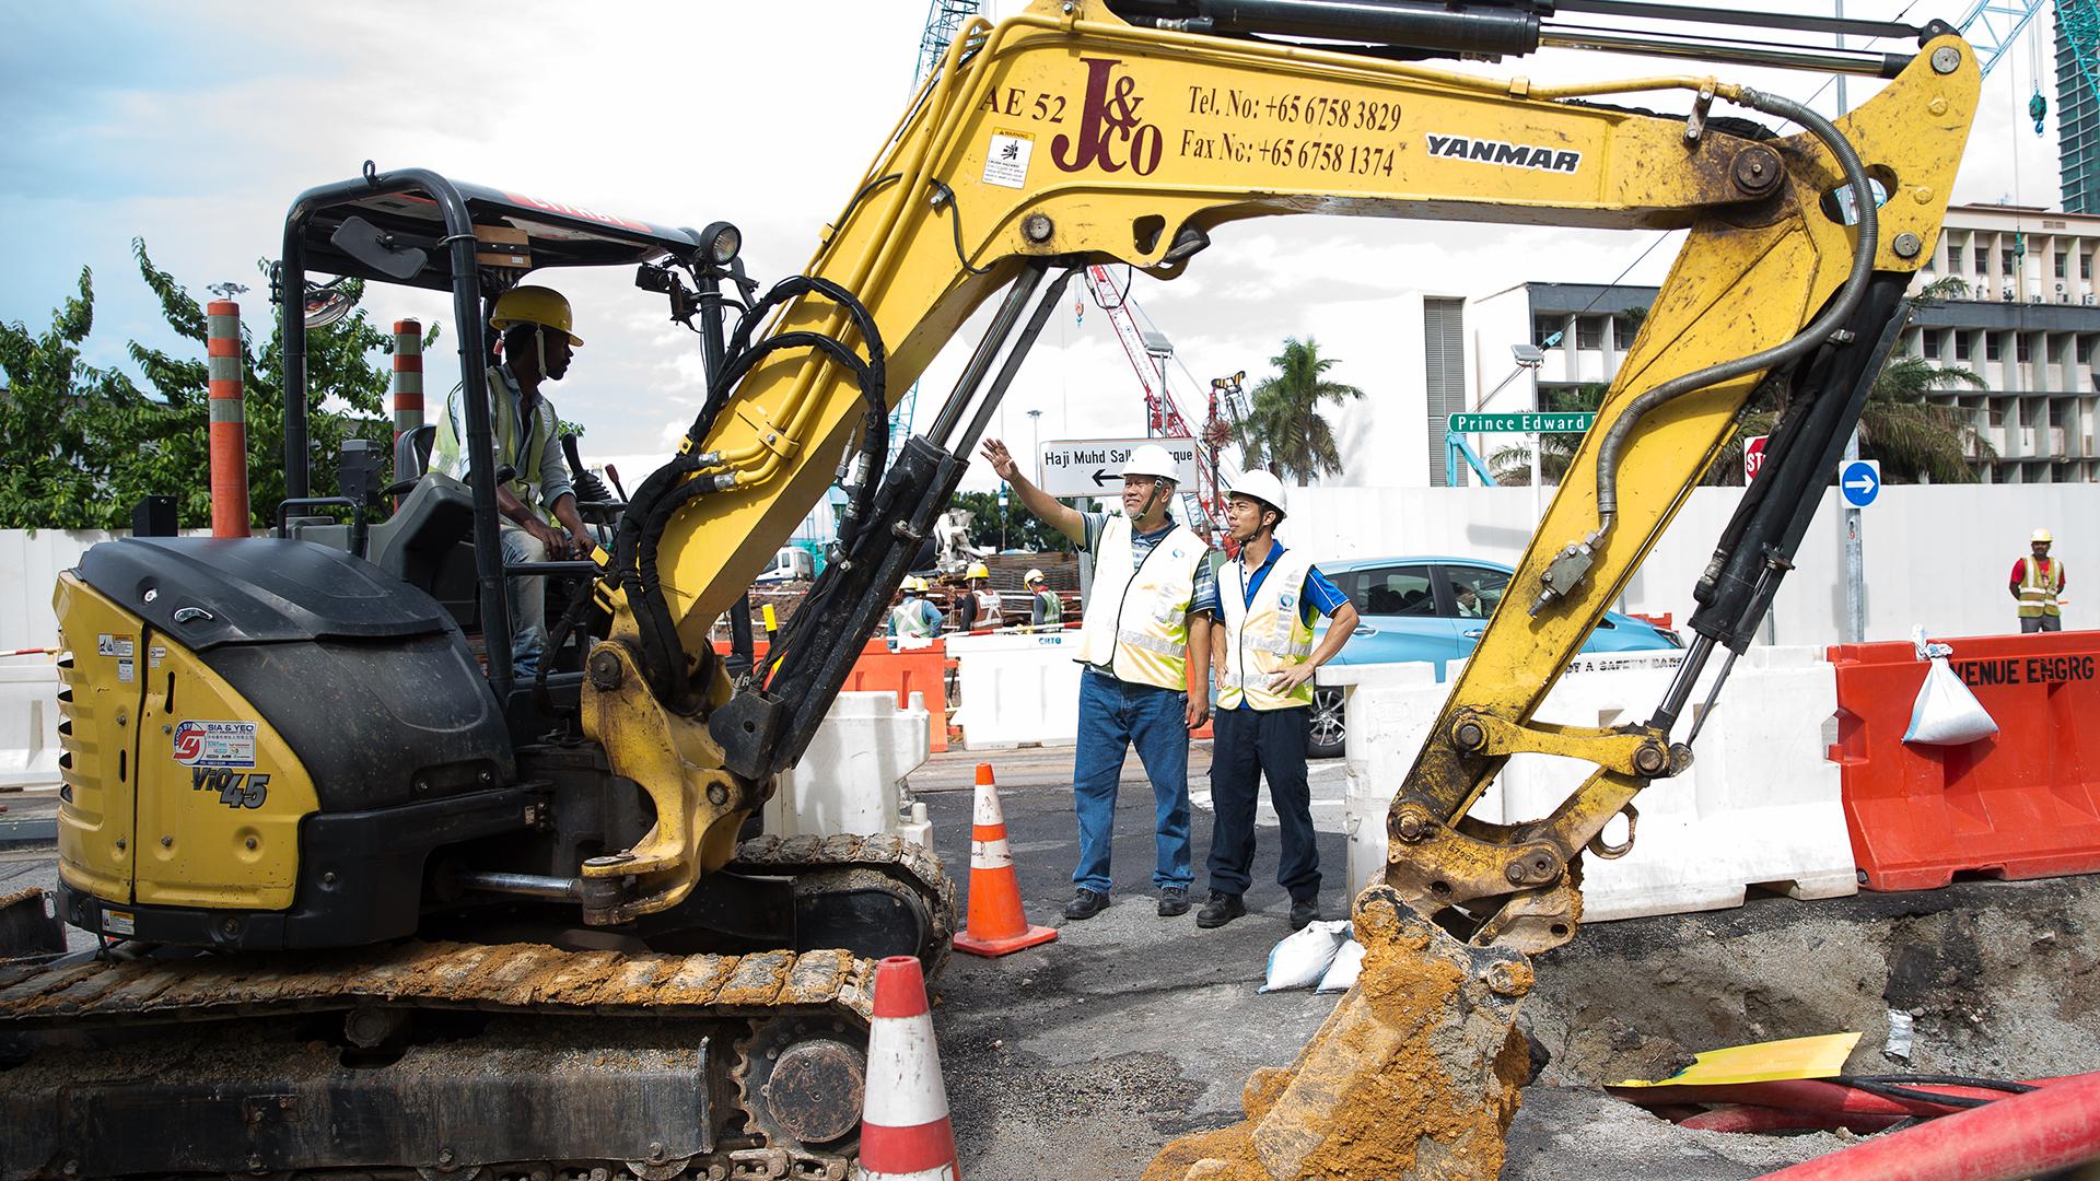
[[[1079,662],[1117,681],[1189,689],[1189,603],[1210,546],[1189,525],[1132,559],[1130,517],[1111,517],[1094,544],[1094,595],[1079,626]]]

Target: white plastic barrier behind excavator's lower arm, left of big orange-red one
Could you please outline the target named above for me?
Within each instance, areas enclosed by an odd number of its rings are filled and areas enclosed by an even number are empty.
[[[1594,727],[1642,721],[1661,700],[1678,656],[1581,656],[1539,706],[1537,721]],[[1690,698],[1695,710],[1718,668],[1716,660],[1701,677]],[[1386,805],[1445,693],[1445,685],[1367,685],[1348,704],[1352,891],[1384,868]],[[1359,710],[1357,702],[1367,708]],[[1835,710],[1838,677],[1821,649],[1751,647],[1743,654],[1699,733],[1690,771],[1655,780],[1634,801],[1640,813],[1634,849],[1615,862],[1583,853],[1583,918],[1741,906],[1751,885],[1791,897],[1856,893],[1840,769],[1825,757]],[[1359,712],[1367,723],[1359,723]],[[1678,733],[1688,733],[1693,721],[1697,717],[1684,719]],[[1493,824],[1541,817],[1588,773],[1590,765],[1575,759],[1518,754],[1470,815]],[[1604,841],[1623,838],[1625,822],[1613,820]]]

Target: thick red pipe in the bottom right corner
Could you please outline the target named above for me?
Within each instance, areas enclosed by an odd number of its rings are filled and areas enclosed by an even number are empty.
[[[2100,1078],[2012,1095],[1819,1156],[1768,1181],[2018,1181],[2100,1160]]]

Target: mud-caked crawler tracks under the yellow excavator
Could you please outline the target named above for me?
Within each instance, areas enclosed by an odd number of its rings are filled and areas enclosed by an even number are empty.
[[[756,838],[737,872],[914,893],[890,836]],[[844,1179],[874,962],[405,941],[0,965],[0,1179]],[[769,1086],[775,1082],[777,1086]],[[792,1082],[792,1086],[790,1086]]]

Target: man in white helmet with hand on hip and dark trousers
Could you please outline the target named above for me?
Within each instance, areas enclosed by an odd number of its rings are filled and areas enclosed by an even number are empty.
[[[1197,927],[1224,927],[1247,912],[1254,868],[1254,805],[1262,775],[1283,828],[1277,885],[1292,895],[1292,931],[1319,918],[1319,845],[1306,738],[1312,731],[1312,670],[1342,651],[1357,607],[1302,553],[1277,542],[1283,481],[1241,473],[1226,490],[1226,525],[1239,559],[1218,572],[1222,622],[1212,628],[1218,719],[1210,750],[1210,899]],[[1315,612],[1327,637],[1312,647]]]

